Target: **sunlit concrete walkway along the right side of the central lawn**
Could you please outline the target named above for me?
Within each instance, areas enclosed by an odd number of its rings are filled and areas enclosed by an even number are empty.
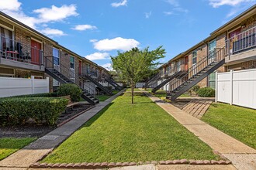
[[[213,148],[214,151],[218,151],[221,155],[227,156],[231,162],[236,162],[234,163],[236,168],[247,170],[256,169],[256,160],[254,159],[256,150],[244,145],[242,142],[237,141],[216,128],[211,127],[209,124],[200,121],[198,118],[187,114],[184,110],[181,110],[172,104],[165,103],[158,97],[152,96],[150,93],[146,94],[158,106],[167,111],[168,114],[171,114],[171,116],[174,117],[180,124]],[[247,161],[244,162],[244,160]]]

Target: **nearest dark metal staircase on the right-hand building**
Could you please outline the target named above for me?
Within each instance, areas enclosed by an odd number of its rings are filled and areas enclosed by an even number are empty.
[[[225,63],[225,49],[215,50],[213,53],[209,53],[208,56],[201,59],[194,66],[190,67],[188,72],[177,80],[173,80],[169,83],[171,90],[167,91],[168,99],[175,100],[177,97],[185,93],[195,84],[209,76],[220,66]]]

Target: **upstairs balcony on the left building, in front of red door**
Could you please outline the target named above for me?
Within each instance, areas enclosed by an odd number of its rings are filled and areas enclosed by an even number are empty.
[[[43,50],[3,36],[0,40],[1,65],[44,71]]]

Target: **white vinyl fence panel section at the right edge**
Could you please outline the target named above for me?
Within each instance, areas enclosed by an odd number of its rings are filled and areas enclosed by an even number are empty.
[[[256,109],[256,69],[216,73],[216,101]]]

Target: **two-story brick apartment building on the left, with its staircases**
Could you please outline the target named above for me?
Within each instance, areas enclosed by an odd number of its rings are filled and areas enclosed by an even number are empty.
[[[0,76],[50,77],[50,91],[60,83],[76,83],[91,103],[95,100],[96,86],[112,94],[99,83],[110,77],[105,68],[3,12],[0,12],[0,34]]]

